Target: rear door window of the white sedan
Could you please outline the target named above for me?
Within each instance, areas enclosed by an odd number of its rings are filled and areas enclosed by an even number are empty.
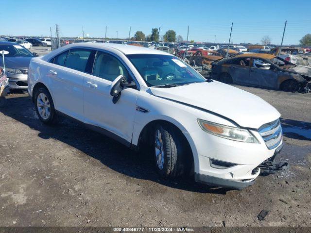
[[[86,49],[72,49],[69,50],[65,67],[79,70],[82,72],[86,71],[86,65],[88,58],[90,57],[91,50]]]

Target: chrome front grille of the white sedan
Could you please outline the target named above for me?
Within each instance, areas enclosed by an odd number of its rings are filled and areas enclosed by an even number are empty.
[[[258,132],[269,150],[276,148],[282,141],[282,127],[279,119],[262,125]]]

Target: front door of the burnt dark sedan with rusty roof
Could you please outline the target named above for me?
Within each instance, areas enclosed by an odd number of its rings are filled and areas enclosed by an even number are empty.
[[[253,58],[250,72],[250,85],[278,88],[278,71],[265,60]]]

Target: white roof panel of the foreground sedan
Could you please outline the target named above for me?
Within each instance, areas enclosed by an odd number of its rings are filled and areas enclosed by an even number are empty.
[[[149,49],[145,47],[138,47],[132,45],[122,45],[122,44],[113,44],[113,43],[78,43],[68,45],[69,47],[88,47],[90,49],[106,49],[113,48],[121,51],[124,54],[162,54],[162,55],[172,55],[167,52],[163,52],[160,50]]]

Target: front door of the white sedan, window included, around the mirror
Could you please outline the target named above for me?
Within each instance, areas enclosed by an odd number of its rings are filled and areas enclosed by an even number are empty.
[[[92,75],[84,80],[84,122],[117,135],[123,142],[131,143],[136,114],[138,90],[124,88],[121,98],[114,104],[110,95],[111,83],[124,75],[131,80],[127,69],[111,54],[98,51]]]

